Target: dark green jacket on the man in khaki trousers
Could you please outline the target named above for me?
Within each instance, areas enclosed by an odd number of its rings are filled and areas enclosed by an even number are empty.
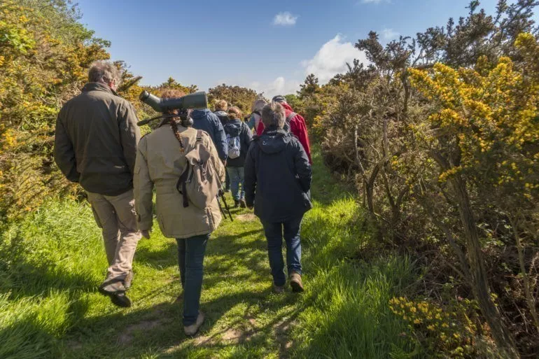
[[[121,195],[133,188],[139,139],[132,104],[106,85],[87,83],[58,114],[55,161],[85,190]]]

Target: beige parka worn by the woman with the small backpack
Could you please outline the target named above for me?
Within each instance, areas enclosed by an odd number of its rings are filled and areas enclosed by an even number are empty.
[[[134,197],[139,230],[151,230],[153,225],[152,197],[155,185],[158,223],[161,232],[168,238],[188,238],[214,232],[221,223],[221,212],[217,199],[206,209],[193,204],[183,207],[183,198],[176,189],[183,169],[186,167],[185,153],[195,147],[197,130],[178,125],[185,148],[180,144],[169,125],[162,125],[142,137],[134,167]],[[219,160],[217,150],[206,132],[202,132],[202,144],[211,153],[221,182],[225,181],[225,167]]]

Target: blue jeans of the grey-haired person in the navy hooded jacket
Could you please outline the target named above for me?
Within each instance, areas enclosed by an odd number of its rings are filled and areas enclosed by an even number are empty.
[[[264,234],[267,239],[269,267],[272,269],[273,283],[276,286],[284,286],[286,283],[283,261],[283,237],[286,242],[286,269],[288,269],[288,275],[290,276],[292,272],[301,274],[300,230],[302,219],[303,216],[286,220],[286,222],[262,222]]]

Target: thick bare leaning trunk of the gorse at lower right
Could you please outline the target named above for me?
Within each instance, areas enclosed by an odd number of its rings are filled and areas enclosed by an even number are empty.
[[[465,188],[465,182],[460,175],[451,179],[451,185],[455,191],[455,197],[458,202],[458,211],[461,216],[461,222],[464,227],[466,240],[466,249],[468,251],[468,262],[470,265],[470,277],[472,281],[472,290],[475,299],[479,303],[479,308],[491,329],[492,337],[498,348],[505,351],[505,356],[510,359],[520,358],[514,339],[505,327],[500,311],[491,298],[486,270],[482,258],[481,246],[479,242],[479,232],[477,224],[470,208],[470,199]]]

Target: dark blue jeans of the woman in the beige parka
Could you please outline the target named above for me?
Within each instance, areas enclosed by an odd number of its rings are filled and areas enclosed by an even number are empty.
[[[209,234],[176,239],[178,242],[178,263],[183,288],[183,325],[191,325],[197,321],[204,275],[204,253]]]

